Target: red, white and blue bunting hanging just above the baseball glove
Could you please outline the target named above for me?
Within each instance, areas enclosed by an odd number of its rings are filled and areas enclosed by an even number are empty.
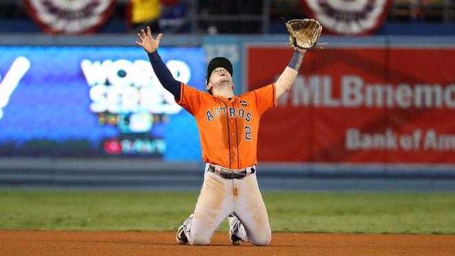
[[[369,35],[384,22],[392,0],[301,0],[303,10],[338,35]]]

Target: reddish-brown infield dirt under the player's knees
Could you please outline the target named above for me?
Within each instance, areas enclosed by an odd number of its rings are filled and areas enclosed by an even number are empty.
[[[269,246],[179,245],[174,232],[0,231],[0,255],[455,255],[455,235],[274,233]]]

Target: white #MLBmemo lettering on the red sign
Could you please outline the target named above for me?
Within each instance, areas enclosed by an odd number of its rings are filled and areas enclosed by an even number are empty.
[[[278,77],[277,77],[278,78]],[[279,106],[455,108],[455,83],[367,83],[357,75],[299,75]]]

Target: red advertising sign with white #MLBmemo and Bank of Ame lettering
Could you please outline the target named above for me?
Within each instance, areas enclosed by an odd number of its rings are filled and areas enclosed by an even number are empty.
[[[276,81],[291,57],[250,46],[247,89]],[[311,50],[261,118],[258,159],[455,164],[454,70],[455,48]]]

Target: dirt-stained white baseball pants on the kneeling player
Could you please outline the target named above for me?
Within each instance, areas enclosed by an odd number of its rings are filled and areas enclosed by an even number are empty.
[[[238,219],[231,230],[237,237],[258,246],[269,244],[272,232],[256,173],[243,179],[224,179],[208,172],[208,166],[194,213],[183,222],[188,242],[209,244],[223,219],[234,213]]]

